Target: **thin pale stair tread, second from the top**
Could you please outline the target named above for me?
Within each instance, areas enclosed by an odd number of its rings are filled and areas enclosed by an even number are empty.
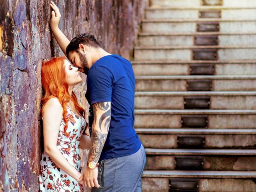
[[[222,19],[222,18],[198,18],[198,19],[143,19],[142,22],[154,22],[154,23],[161,23],[161,22],[246,22],[246,21],[255,21],[255,19]]]

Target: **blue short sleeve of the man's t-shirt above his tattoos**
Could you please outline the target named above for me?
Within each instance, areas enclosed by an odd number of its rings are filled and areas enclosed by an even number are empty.
[[[111,102],[113,81],[113,74],[105,67],[94,66],[89,70],[87,86],[90,90],[91,105]]]

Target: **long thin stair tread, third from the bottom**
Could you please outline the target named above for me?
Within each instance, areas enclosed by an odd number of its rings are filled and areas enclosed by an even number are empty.
[[[256,134],[256,129],[135,128],[137,134]]]

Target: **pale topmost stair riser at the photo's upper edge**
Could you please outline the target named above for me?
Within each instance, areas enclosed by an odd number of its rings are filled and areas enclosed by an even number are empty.
[[[151,0],[151,5],[155,7],[198,7],[201,6],[202,0]],[[223,7],[255,7],[256,2],[253,0],[223,0]]]

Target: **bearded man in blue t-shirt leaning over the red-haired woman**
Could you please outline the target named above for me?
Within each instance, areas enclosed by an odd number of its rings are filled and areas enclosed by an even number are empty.
[[[91,147],[81,178],[92,191],[139,192],[146,157],[134,125],[132,64],[102,49],[91,34],[71,42],[58,28],[60,12],[51,2],[50,26],[70,62],[87,75]]]

